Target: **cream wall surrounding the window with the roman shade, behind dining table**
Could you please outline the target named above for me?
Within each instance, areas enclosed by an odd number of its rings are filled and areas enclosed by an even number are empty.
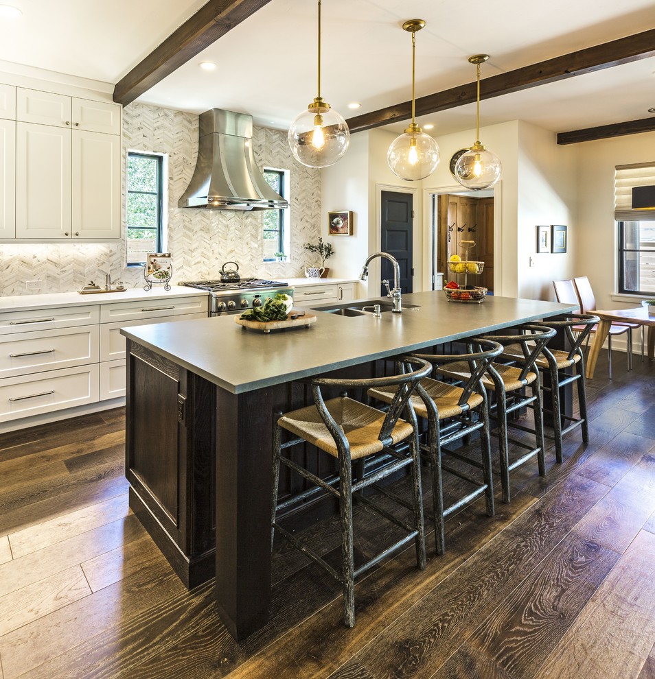
[[[576,145],[579,248],[575,276],[588,276],[599,309],[616,309],[616,227],[614,166],[655,162],[655,132],[629,134]],[[641,299],[641,298],[639,298]],[[625,306],[634,306],[626,300]]]

